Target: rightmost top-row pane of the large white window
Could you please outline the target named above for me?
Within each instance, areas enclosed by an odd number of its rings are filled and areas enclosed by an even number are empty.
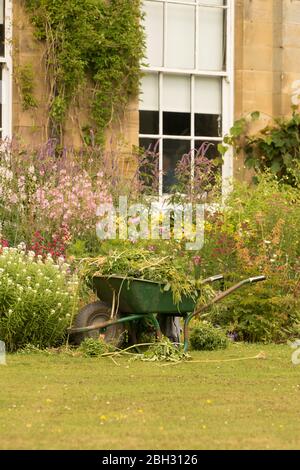
[[[200,70],[224,68],[223,17],[222,9],[199,7],[198,68]]]

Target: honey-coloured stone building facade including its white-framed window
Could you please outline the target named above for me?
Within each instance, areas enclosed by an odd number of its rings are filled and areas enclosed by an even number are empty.
[[[159,142],[161,169],[172,155],[207,140],[217,145],[233,121],[254,110],[263,125],[288,115],[300,79],[300,0],[144,0],[149,67],[141,98],[108,132],[132,144]],[[22,0],[0,0],[1,133],[24,144],[47,139],[44,49],[33,34]],[[30,64],[38,106],[24,109],[19,74]],[[87,110],[69,112],[66,145],[80,145]],[[167,162],[167,163],[166,163]],[[228,156],[224,178],[244,177]],[[164,182],[161,183],[163,191]]]

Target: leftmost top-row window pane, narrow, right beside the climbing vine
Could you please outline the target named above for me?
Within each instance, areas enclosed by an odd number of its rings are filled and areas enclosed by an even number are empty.
[[[160,2],[145,2],[145,32],[146,32],[146,60],[149,65],[162,67],[163,65],[163,4]]]

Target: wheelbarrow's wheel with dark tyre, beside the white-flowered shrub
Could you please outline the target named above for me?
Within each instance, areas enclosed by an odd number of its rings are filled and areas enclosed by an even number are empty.
[[[84,328],[92,326],[96,323],[106,322],[110,320],[111,309],[104,302],[93,302],[83,307],[77,314],[74,321],[74,328]],[[119,315],[117,314],[117,318]],[[111,325],[105,330],[92,330],[84,333],[73,333],[72,342],[79,345],[86,338],[98,339],[102,338],[106,343],[120,347],[124,342],[125,328],[124,324]]]

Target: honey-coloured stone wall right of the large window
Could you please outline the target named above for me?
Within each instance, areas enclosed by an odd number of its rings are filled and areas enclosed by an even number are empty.
[[[260,111],[253,132],[291,113],[300,79],[300,0],[235,0],[235,118]],[[242,159],[234,171],[247,178]]]

